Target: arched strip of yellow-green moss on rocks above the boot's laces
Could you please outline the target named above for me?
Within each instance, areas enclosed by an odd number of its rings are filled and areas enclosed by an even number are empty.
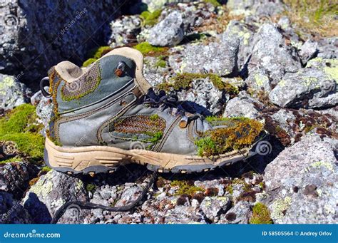
[[[236,95],[238,88],[230,83],[223,82],[222,78],[214,73],[180,73],[173,78],[173,83],[163,83],[158,88],[168,90],[173,88],[175,91],[186,89],[191,86],[194,80],[208,78],[211,83],[220,91],[227,91],[230,95]]]

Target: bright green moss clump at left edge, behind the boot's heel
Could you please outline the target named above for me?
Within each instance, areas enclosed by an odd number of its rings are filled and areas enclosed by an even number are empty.
[[[38,162],[43,158],[44,138],[39,134],[42,125],[36,125],[36,108],[24,104],[0,118],[0,140],[13,141],[19,153]]]

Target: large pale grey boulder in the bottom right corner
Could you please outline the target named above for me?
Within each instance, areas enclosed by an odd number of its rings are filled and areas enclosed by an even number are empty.
[[[267,165],[264,179],[275,223],[336,221],[337,158],[329,143],[309,138],[295,143]]]

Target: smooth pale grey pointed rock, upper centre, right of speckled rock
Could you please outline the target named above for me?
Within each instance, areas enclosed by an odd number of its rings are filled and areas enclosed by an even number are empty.
[[[153,46],[175,46],[184,37],[182,14],[173,11],[150,29],[147,41]]]

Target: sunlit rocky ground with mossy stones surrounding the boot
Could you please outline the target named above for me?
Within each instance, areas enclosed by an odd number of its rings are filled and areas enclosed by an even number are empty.
[[[210,172],[160,175],[130,212],[75,207],[60,222],[337,223],[337,36],[303,29],[278,0],[144,3],[148,12],[111,21],[109,47],[83,66],[109,48],[138,48],[155,88],[197,103],[205,115],[260,120],[270,133],[267,150]],[[76,31],[69,34],[78,41]],[[7,62],[5,70],[15,68]],[[123,206],[140,195],[151,172],[139,165],[96,177],[48,170],[42,157],[51,100],[17,76],[0,80],[0,223],[48,223],[70,200]]]

